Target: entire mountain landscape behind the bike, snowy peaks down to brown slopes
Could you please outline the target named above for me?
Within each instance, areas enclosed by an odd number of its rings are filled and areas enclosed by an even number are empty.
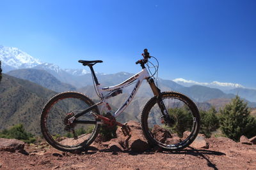
[[[57,92],[78,91],[93,100],[99,99],[93,88],[92,75],[86,69],[61,69],[56,64],[41,62],[18,48],[6,46],[0,46],[0,60],[3,72],[6,73],[3,74],[0,83],[0,129],[22,123],[30,132],[39,134],[40,112],[46,101]],[[116,85],[133,76],[132,73],[126,72],[96,74],[103,86]],[[237,94],[248,102],[248,106],[256,107],[256,90],[246,89],[236,83],[195,82],[186,82],[182,79],[172,81],[159,78],[157,80],[159,89],[186,94],[200,109],[207,110],[211,106],[221,108]],[[221,87],[225,89],[221,90]],[[129,97],[132,88],[131,85],[123,91],[123,94],[109,99],[114,111]],[[120,117],[117,117],[117,120],[120,122],[140,120],[141,111],[152,96],[152,90],[147,82],[143,81],[131,105]]]

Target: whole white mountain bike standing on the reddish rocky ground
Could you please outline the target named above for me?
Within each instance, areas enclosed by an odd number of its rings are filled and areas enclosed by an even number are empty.
[[[93,70],[93,66],[102,60],[79,60],[83,66],[90,67],[95,92],[100,100],[94,103],[79,92],[63,92],[52,97],[45,104],[40,118],[46,141],[58,150],[72,152],[88,148],[97,138],[102,124],[107,127],[121,126],[124,135],[128,135],[129,126],[116,122],[115,118],[129,106],[141,82],[147,80],[154,94],[141,113],[141,127],[148,143],[165,150],[180,150],[189,146],[200,128],[200,115],[196,104],[179,92],[161,92],[154,82],[154,74],[159,67],[156,57],[150,56],[147,49],[142,55],[143,59],[136,62],[142,70],[111,87],[102,87]],[[152,64],[149,60],[152,58],[157,61],[154,74],[148,65]],[[115,113],[111,113],[108,99],[122,94],[123,89],[129,85],[134,85],[134,88],[128,99]]]

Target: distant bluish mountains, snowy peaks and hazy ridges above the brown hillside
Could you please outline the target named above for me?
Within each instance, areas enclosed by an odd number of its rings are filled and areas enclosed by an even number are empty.
[[[3,73],[33,81],[56,92],[76,90],[83,88],[86,85],[92,85],[92,76],[88,70],[61,69],[61,67],[56,64],[41,62],[28,53],[22,52],[18,48],[0,45],[0,60],[2,61]],[[32,69],[36,69],[37,71],[33,71]],[[132,75],[132,73],[125,72],[116,74],[97,73],[100,83],[106,86],[120,83]],[[39,81],[41,81],[41,83]],[[157,82],[159,83],[159,87],[163,90],[183,92],[198,102],[204,102],[209,99],[214,99],[215,97],[233,97],[230,94],[239,95],[250,102],[256,102],[256,90],[246,89],[243,85],[237,83],[220,83],[218,81],[213,81],[212,83],[199,83],[193,80],[184,80],[182,78],[177,78],[173,81],[159,78]],[[197,90],[198,92],[196,92]],[[144,92],[146,94],[143,94],[142,96],[147,96],[147,90],[144,90]]]

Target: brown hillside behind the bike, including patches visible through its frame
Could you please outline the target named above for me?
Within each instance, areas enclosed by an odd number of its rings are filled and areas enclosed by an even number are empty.
[[[92,86],[79,91],[97,99]],[[44,104],[55,94],[56,92],[45,89],[36,83],[3,74],[0,83],[0,130],[22,123],[27,131],[40,134],[40,113]],[[120,94],[111,99],[109,104],[113,111],[116,111],[127,98],[128,94]],[[128,120],[139,120],[141,110],[148,99],[148,97],[137,97],[124,113],[117,117],[117,120],[122,123]]]

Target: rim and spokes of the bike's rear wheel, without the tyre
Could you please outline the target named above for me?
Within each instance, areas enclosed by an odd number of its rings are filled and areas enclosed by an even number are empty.
[[[79,97],[60,97],[53,101],[47,107],[44,118],[46,138],[54,145],[64,148],[86,145],[97,129],[95,117],[88,112],[77,120],[92,120],[95,122],[94,124],[72,124],[68,128],[65,119],[69,118],[68,114],[76,114],[88,107],[86,101]]]

